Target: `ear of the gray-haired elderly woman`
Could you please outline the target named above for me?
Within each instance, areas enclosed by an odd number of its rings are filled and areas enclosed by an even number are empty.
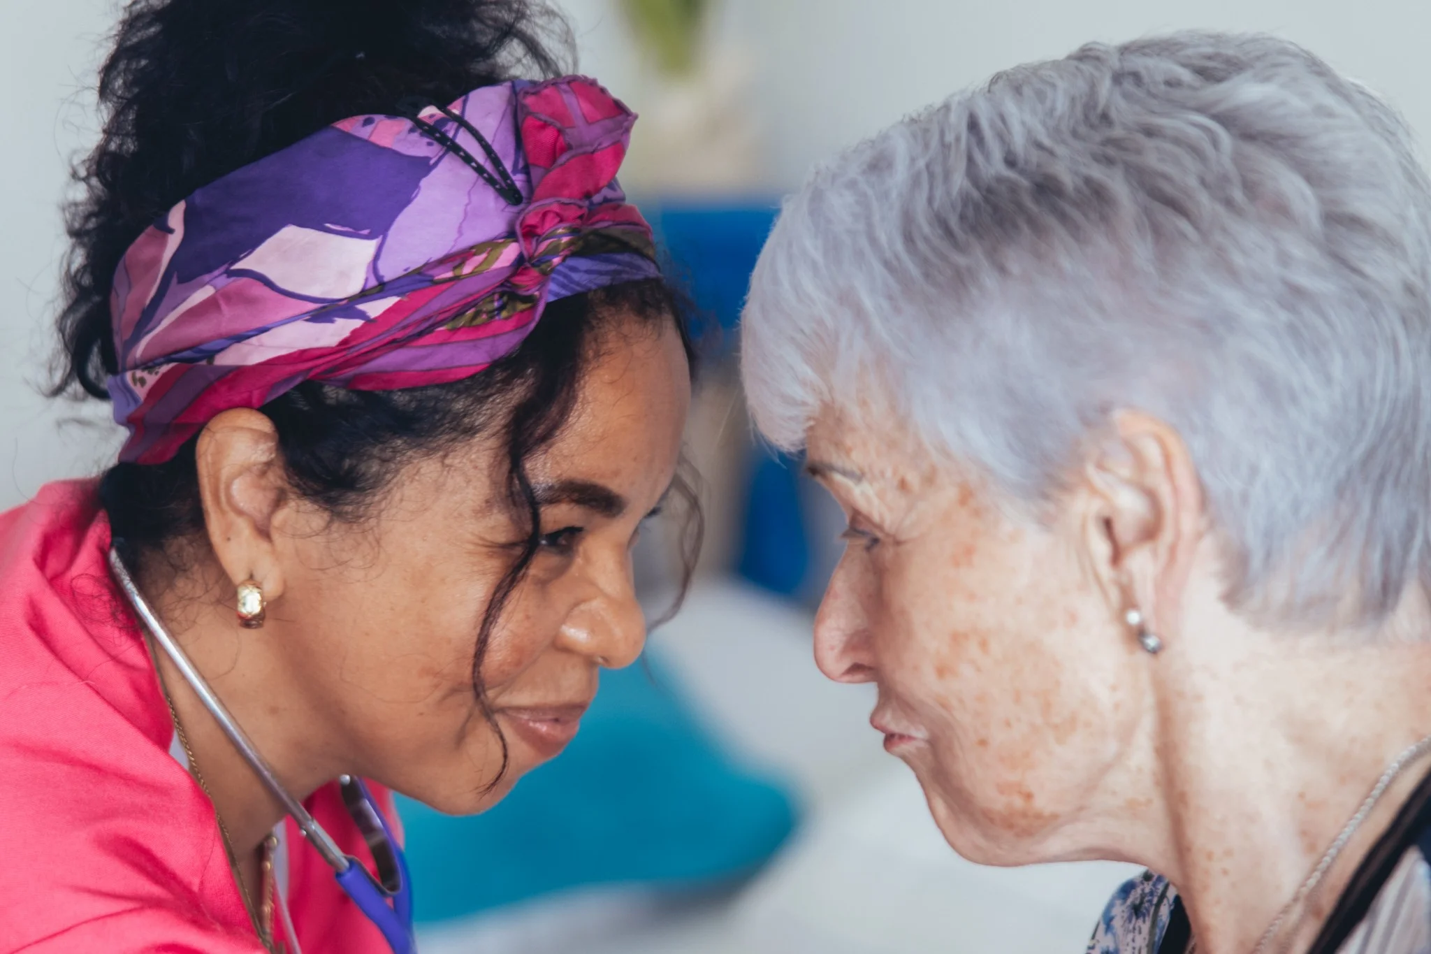
[[[1165,625],[1203,526],[1202,483],[1188,445],[1166,422],[1120,410],[1080,483],[1085,552],[1109,604],[1118,615],[1136,606],[1151,626]]]

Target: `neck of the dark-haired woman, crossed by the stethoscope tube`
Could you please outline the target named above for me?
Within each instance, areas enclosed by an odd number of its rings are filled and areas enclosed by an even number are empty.
[[[190,571],[163,586],[160,619],[195,668],[233,715],[279,782],[298,800],[338,775],[323,721],[306,704],[302,687],[283,665],[282,624],[243,629],[233,608],[218,596],[228,578],[215,566]],[[157,589],[157,586],[156,586]],[[146,588],[146,594],[153,592]],[[230,840],[246,860],[283,818],[282,802],[243,759],[173,661],[156,645],[160,679],[173,702],[203,787]]]

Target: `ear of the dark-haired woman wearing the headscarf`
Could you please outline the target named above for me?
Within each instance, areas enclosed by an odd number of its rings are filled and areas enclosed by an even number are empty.
[[[288,483],[273,422],[248,408],[225,410],[200,432],[195,465],[209,544],[223,572],[235,585],[252,579],[265,599],[278,599],[285,581],[273,526]]]

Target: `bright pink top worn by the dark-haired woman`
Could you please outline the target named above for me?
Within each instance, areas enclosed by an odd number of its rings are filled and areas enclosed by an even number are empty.
[[[213,805],[170,754],[173,722],[110,579],[93,482],[0,515],[0,954],[259,954]],[[369,782],[391,824],[391,794]],[[372,862],[336,782],[305,807]],[[275,860],[303,954],[386,954],[292,820]]]

